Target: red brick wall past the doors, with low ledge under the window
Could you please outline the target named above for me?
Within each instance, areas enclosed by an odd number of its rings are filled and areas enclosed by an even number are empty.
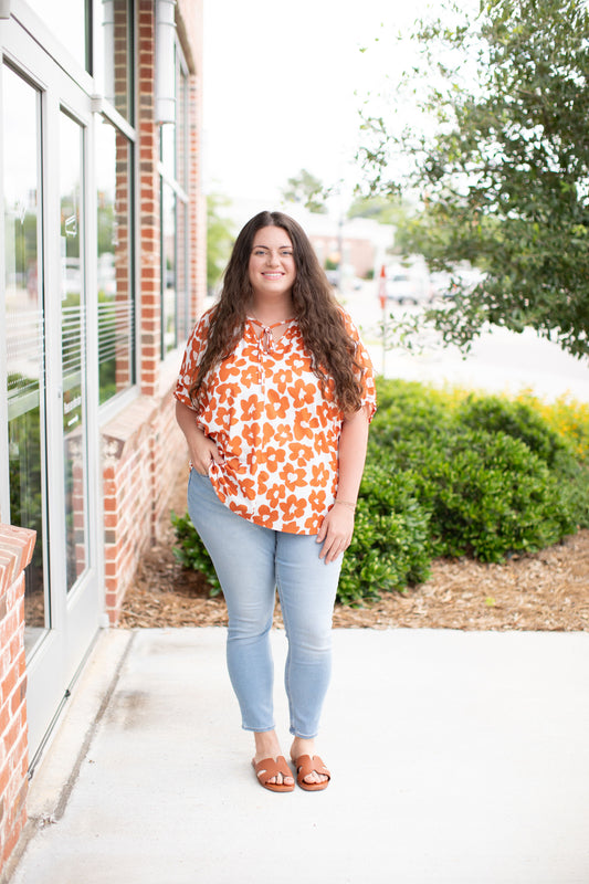
[[[200,189],[202,128],[202,4],[180,0],[178,38],[189,65],[189,223],[187,283],[190,326],[206,295],[206,211]],[[172,480],[187,460],[186,442],[176,423],[171,396],[181,355],[160,361],[160,181],[159,129],[155,123],[155,8],[138,0],[138,259],[139,388],[141,396],[102,428],[105,598],[111,623],[118,620],[125,593],[140,556],[155,539]],[[179,341],[180,349],[185,341]]]

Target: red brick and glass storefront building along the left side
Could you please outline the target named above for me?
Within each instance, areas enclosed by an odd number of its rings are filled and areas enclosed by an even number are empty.
[[[206,288],[201,2],[1,0],[0,51],[6,860],[27,771],[186,457],[171,389]]]

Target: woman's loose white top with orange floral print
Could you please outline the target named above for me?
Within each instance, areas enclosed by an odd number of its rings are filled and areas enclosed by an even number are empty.
[[[350,317],[341,312],[365,368],[362,404],[376,411],[372,365]],[[175,397],[193,409],[189,389],[207,347],[211,311],[194,327]],[[214,440],[223,463],[209,477],[227,506],[256,525],[288,534],[318,533],[333,506],[344,415],[333,390],[322,393],[296,319],[275,341],[261,338],[248,319],[234,352],[218,364],[201,388],[198,422]],[[260,326],[260,323],[257,323]]]

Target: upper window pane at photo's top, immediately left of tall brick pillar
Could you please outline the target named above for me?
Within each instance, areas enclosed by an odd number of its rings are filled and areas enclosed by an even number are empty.
[[[94,3],[93,75],[98,91],[133,124],[133,3]]]

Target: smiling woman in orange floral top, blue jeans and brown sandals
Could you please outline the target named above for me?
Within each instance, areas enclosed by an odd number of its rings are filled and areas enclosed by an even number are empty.
[[[272,704],[277,589],[291,758],[303,789],[325,789],[315,737],[376,399],[369,357],[296,221],[261,212],[245,224],[175,396],[191,459],[188,509],[225,597],[229,674],[254,734],[255,774],[266,789],[294,789]]]

